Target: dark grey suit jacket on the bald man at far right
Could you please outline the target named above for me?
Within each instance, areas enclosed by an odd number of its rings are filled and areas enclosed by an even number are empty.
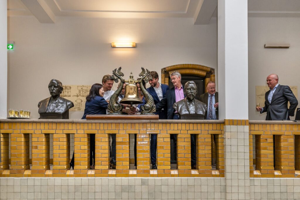
[[[289,120],[289,116],[294,116],[298,101],[289,86],[278,85],[271,99],[268,95],[271,90],[265,93],[265,107],[261,113],[267,112],[265,120]],[[289,102],[289,109],[287,108]]]

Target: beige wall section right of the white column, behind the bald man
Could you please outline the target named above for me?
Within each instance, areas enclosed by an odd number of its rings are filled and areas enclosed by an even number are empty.
[[[255,110],[255,86],[266,85],[269,74],[278,74],[281,85],[298,86],[299,94],[299,33],[300,18],[248,18],[249,120],[265,120],[266,114]],[[265,49],[266,43],[290,43],[291,46],[289,49]]]

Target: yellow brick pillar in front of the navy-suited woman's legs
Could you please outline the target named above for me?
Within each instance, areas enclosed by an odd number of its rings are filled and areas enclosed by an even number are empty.
[[[74,177],[87,177],[90,169],[90,135],[74,134]]]

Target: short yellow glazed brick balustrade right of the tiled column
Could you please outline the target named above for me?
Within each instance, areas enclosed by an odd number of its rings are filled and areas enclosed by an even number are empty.
[[[300,123],[249,121],[249,134],[250,177],[300,177]]]

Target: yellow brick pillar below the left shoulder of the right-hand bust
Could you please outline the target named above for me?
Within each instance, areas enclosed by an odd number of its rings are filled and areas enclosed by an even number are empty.
[[[177,135],[177,169],[180,176],[191,176],[190,134]]]

